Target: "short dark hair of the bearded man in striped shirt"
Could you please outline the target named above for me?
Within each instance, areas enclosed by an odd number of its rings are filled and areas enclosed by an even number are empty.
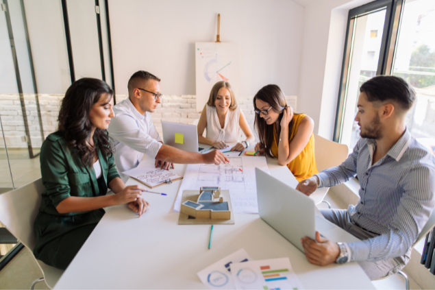
[[[415,101],[414,89],[401,77],[393,75],[378,75],[364,82],[361,93],[366,93],[367,99],[373,101],[395,101],[401,109],[408,111]]]

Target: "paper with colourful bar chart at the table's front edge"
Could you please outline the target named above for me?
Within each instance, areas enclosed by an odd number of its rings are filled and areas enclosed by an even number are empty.
[[[231,274],[236,289],[303,289],[288,258],[234,263]]]

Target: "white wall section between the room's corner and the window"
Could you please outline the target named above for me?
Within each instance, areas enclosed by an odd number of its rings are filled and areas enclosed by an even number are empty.
[[[317,0],[305,8],[298,107],[325,138],[334,133],[347,15],[371,1]]]

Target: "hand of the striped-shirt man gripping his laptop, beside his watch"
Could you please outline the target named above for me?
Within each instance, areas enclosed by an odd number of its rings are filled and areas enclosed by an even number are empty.
[[[314,265],[330,265],[336,261],[340,254],[338,244],[321,237],[319,232],[316,232],[316,241],[309,237],[303,237],[301,243],[308,262]]]

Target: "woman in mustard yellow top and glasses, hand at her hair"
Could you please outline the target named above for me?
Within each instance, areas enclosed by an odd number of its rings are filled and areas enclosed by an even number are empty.
[[[319,173],[314,157],[314,121],[306,114],[293,113],[281,88],[269,84],[253,97],[255,129],[260,138],[255,150],[278,158],[297,181]]]

